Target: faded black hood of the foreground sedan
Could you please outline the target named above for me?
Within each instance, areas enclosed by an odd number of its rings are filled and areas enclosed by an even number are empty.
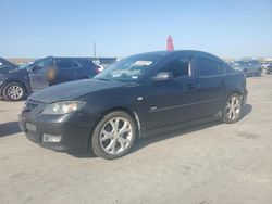
[[[32,94],[28,99],[45,103],[53,103],[57,101],[76,100],[77,98],[85,94],[121,86],[124,86],[124,82],[99,79],[83,79],[54,85]]]

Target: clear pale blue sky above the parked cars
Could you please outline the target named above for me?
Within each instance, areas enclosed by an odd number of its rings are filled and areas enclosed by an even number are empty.
[[[272,56],[272,0],[1,0],[0,55],[126,56],[175,49]]]

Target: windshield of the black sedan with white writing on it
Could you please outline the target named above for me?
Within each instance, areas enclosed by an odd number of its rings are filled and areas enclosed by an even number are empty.
[[[136,81],[162,56],[163,55],[160,54],[129,56],[114,63],[95,78],[119,81]]]

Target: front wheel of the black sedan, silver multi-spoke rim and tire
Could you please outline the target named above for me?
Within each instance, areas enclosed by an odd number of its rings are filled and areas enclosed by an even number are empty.
[[[135,138],[136,125],[131,115],[114,111],[104,115],[96,126],[91,137],[91,148],[97,156],[114,160],[129,151]]]

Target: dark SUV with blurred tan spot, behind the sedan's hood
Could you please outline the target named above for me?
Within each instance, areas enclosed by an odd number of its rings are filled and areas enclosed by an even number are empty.
[[[91,78],[99,73],[88,58],[48,56],[27,66],[0,69],[0,97],[20,101],[46,87]]]

